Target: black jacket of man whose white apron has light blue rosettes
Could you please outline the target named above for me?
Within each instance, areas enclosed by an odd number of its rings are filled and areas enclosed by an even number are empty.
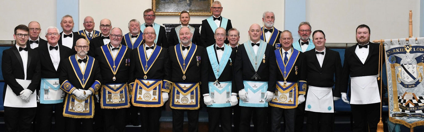
[[[340,97],[340,77],[342,64],[340,54],[329,48],[326,53],[322,67],[319,65],[315,54],[315,48],[304,53],[306,59],[307,82],[310,86],[334,87],[333,96]],[[336,79],[334,81],[334,78]]]

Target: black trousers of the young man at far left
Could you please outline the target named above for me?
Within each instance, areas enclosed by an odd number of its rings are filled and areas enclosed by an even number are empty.
[[[36,108],[4,107],[6,132],[31,132],[31,122],[35,118]]]

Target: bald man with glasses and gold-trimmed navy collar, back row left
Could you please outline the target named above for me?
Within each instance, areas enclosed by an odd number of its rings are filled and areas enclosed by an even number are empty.
[[[94,19],[91,16],[86,16],[83,22],[84,30],[78,31],[78,34],[83,36],[88,43],[90,43],[92,38],[100,36],[100,32],[94,30]]]

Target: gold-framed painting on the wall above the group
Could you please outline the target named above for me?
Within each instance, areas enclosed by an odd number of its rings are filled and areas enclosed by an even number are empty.
[[[214,0],[152,0],[156,16],[179,16],[181,11],[190,16],[212,16],[210,7]]]

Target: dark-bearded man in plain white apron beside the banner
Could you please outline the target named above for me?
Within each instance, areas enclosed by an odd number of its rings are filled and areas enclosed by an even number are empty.
[[[359,25],[356,28],[356,45],[346,48],[343,62],[341,98],[349,103],[346,93],[350,76],[350,106],[353,115],[353,131],[375,132],[379,121],[380,94],[378,76],[379,44],[371,43],[370,28]],[[381,55],[382,56],[382,55]],[[384,57],[384,56],[382,56]],[[384,59],[383,62],[384,63]],[[361,84],[368,84],[365,88]],[[359,96],[361,95],[361,96]],[[366,98],[364,98],[366,97]]]

